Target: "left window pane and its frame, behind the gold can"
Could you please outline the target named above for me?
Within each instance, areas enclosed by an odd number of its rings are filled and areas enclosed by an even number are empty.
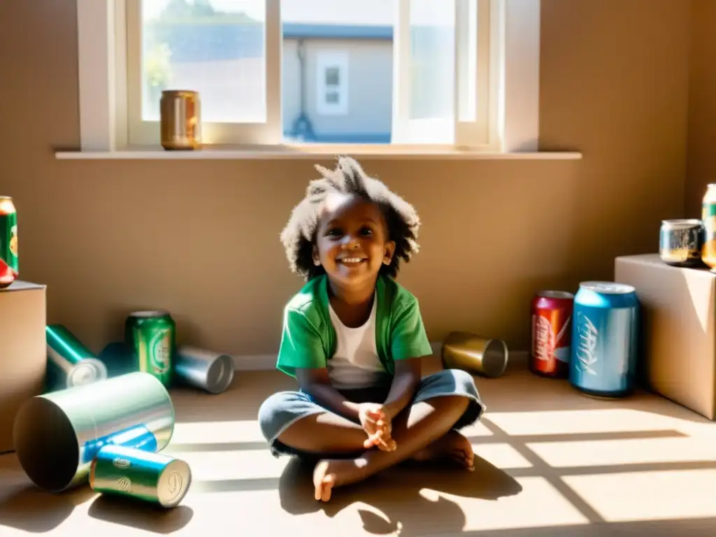
[[[268,39],[271,2],[125,1],[131,145],[158,143],[163,89],[199,93],[206,143],[276,141],[281,46]]]

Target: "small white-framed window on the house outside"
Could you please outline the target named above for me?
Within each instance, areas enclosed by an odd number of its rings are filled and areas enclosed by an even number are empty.
[[[321,50],[316,57],[316,110],[348,115],[348,52]]]

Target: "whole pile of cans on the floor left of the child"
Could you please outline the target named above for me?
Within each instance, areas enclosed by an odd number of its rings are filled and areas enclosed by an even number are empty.
[[[135,311],[125,340],[95,357],[66,326],[46,326],[45,393],[26,402],[14,425],[16,453],[33,483],[58,493],[89,480],[99,493],[163,508],[183,500],[191,470],[160,453],[174,427],[168,388],[221,393],[234,369],[226,354],[177,347],[175,332],[168,311]]]

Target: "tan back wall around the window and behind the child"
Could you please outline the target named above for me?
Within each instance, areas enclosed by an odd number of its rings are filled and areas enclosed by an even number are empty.
[[[0,190],[48,321],[99,350],[128,310],[163,307],[180,339],[275,352],[301,284],[279,232],[313,163],[54,160],[79,140],[75,15],[74,0],[0,3]],[[654,251],[659,220],[684,208],[689,26],[684,0],[543,0],[542,146],[584,160],[364,160],[422,215],[400,281],[431,339],[470,329],[525,348],[533,291]]]

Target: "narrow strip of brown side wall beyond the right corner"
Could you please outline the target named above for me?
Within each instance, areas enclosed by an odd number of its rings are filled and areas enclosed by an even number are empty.
[[[716,183],[716,1],[692,0],[687,214],[699,218],[706,185]]]

